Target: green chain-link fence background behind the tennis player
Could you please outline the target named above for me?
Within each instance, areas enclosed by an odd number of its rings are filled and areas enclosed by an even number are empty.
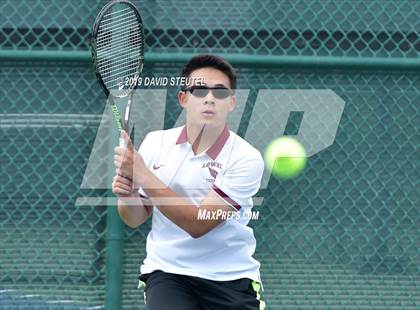
[[[106,102],[89,50],[104,3],[0,2],[1,309],[144,309],[150,223],[130,229],[106,203],[76,204],[110,196],[81,189]],[[261,89],[331,89],[346,102],[334,143],[258,193],[267,309],[419,309],[420,1],[134,3],[143,76],[178,76],[197,53],[233,63],[250,89],[241,136]],[[164,128],[180,113],[175,94],[155,115]],[[292,113],[286,134],[300,121]]]

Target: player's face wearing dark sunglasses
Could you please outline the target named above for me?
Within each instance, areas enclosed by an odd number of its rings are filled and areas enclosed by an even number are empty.
[[[195,83],[189,85],[188,91],[179,93],[187,122],[206,128],[225,126],[229,112],[236,105],[228,76],[214,68],[201,68],[193,71],[190,78]]]

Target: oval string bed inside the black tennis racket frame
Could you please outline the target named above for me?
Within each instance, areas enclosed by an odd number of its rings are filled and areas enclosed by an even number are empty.
[[[142,26],[131,8],[104,15],[97,35],[97,66],[108,89],[129,91],[124,82],[139,75],[143,61]],[[126,95],[123,94],[122,95]]]

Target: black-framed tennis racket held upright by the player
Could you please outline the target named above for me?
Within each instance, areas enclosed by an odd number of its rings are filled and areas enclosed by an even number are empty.
[[[96,17],[92,31],[92,60],[99,84],[108,97],[118,131],[129,135],[133,91],[144,64],[143,22],[139,11],[127,0],[113,0]],[[124,120],[116,105],[125,102]],[[120,106],[120,104],[119,104]],[[120,136],[120,146],[125,142]]]

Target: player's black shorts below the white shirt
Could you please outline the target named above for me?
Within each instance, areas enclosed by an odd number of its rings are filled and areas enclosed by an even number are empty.
[[[212,281],[163,271],[140,276],[147,310],[260,310],[259,284],[250,279]]]

